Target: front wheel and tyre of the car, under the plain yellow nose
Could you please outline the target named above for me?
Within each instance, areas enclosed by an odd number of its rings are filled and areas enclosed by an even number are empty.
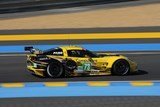
[[[113,64],[111,70],[112,75],[119,75],[119,76],[127,75],[129,74],[129,72],[130,72],[130,65],[128,61],[126,61],[125,59],[117,60]]]

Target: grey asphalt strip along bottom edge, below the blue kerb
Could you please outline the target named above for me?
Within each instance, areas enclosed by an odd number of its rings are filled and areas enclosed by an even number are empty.
[[[46,97],[1,99],[0,107],[159,107],[160,97]]]

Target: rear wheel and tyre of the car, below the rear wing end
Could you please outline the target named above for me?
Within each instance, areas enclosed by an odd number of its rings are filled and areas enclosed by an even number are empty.
[[[63,76],[63,66],[60,62],[51,62],[47,67],[47,76],[52,78],[58,78]]]

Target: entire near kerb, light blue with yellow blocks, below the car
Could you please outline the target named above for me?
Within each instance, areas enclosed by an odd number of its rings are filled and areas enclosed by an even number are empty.
[[[160,81],[1,83],[0,98],[160,96]]]

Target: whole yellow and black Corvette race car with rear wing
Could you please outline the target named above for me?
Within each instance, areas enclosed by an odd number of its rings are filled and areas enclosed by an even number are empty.
[[[93,53],[78,46],[61,46],[41,51],[25,47],[27,69],[43,77],[87,75],[127,75],[137,71],[137,64],[125,56]]]

